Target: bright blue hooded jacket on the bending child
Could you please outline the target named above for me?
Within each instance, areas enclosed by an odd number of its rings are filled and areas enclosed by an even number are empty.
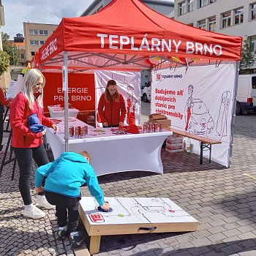
[[[80,154],[64,152],[54,162],[38,167],[35,173],[36,187],[42,186],[44,177],[46,177],[45,191],[78,197],[80,187],[86,183],[99,206],[104,204],[104,195],[94,169]]]

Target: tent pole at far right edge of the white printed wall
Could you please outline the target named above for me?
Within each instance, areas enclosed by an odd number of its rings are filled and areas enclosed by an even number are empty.
[[[234,138],[235,121],[236,121],[236,98],[237,98],[237,91],[238,91],[238,75],[239,75],[239,61],[236,61],[236,82],[235,82],[234,97],[233,97],[233,109],[232,109],[233,112],[232,112],[232,119],[231,119],[231,139],[230,139],[228,167],[231,166],[230,159],[232,158],[232,151],[233,151],[233,138]]]

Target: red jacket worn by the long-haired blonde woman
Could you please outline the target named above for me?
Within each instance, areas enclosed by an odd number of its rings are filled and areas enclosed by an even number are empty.
[[[27,119],[37,113],[40,124],[52,127],[53,121],[42,114],[43,108],[34,103],[34,108],[29,108],[29,101],[20,92],[10,104],[10,124],[12,128],[12,146],[15,148],[36,148],[42,145],[42,132],[34,133],[28,128]]]

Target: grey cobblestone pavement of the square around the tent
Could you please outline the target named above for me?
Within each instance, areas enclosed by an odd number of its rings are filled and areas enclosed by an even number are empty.
[[[255,256],[256,180],[243,175],[256,176],[255,156],[256,114],[249,113],[236,117],[230,168],[208,164],[207,159],[199,165],[198,155],[162,150],[163,175],[127,172],[99,177],[108,197],[169,197],[200,225],[189,233],[102,236],[97,256]],[[13,181],[11,173],[12,167],[6,166],[0,178],[0,255],[73,255],[68,240],[63,243],[53,236],[54,210],[46,211],[44,219],[22,217],[18,169]],[[86,187],[82,193],[89,195]]]

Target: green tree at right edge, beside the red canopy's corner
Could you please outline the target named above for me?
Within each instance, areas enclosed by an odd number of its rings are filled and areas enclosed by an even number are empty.
[[[252,42],[249,37],[244,40],[244,46],[242,48],[240,68],[241,69],[249,69],[256,62],[255,53],[252,51]]]

